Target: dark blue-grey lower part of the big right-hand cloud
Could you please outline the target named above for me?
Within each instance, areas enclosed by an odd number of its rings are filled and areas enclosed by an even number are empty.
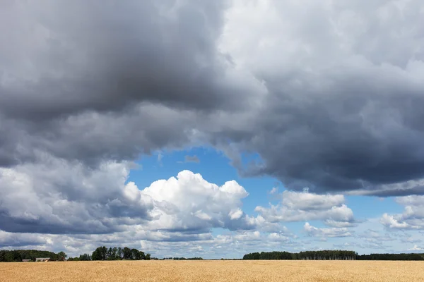
[[[277,176],[295,190],[320,192],[422,178],[422,90],[395,77],[383,79],[384,90],[364,87],[370,79],[363,76],[334,85],[331,92],[318,90],[305,104],[295,98],[277,102],[283,93],[276,92],[266,107],[271,114],[258,121],[248,144],[265,163],[252,173]]]

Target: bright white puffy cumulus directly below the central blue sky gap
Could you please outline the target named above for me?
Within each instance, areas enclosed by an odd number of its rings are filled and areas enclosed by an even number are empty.
[[[141,191],[154,202],[153,221],[148,228],[160,230],[202,230],[208,228],[254,228],[242,211],[242,199],[249,195],[234,180],[218,186],[191,171],[177,178],[158,180]]]

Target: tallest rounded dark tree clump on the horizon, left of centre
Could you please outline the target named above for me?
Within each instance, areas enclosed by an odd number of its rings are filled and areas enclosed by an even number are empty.
[[[80,256],[81,257],[81,256]],[[144,254],[137,249],[130,249],[129,247],[107,247],[102,246],[95,249],[93,254],[91,255],[91,260],[121,260],[121,259],[129,259],[129,260],[140,260],[146,259],[150,260],[150,254]]]

